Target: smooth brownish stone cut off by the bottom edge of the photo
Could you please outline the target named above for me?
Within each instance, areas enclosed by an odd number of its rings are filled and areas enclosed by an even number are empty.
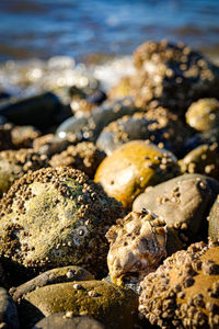
[[[71,313],[50,315],[32,329],[106,329],[104,325],[87,316],[72,316]]]

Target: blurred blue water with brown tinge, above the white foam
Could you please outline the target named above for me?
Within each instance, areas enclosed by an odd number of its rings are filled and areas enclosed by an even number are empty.
[[[219,49],[218,0],[1,0],[0,60],[127,55],[146,39]]]

